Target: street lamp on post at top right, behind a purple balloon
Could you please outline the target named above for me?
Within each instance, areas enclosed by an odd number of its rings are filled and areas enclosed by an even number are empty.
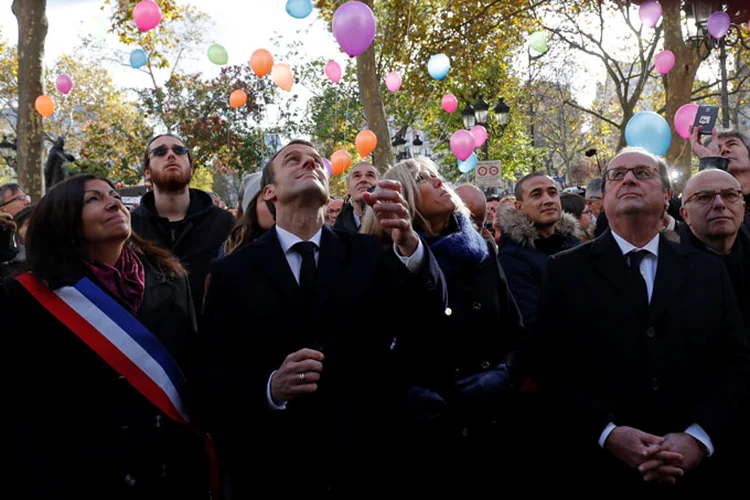
[[[721,125],[729,128],[729,92],[727,89],[727,47],[741,44],[745,50],[750,50],[750,40],[745,40],[738,22],[745,22],[741,10],[728,12],[732,23],[729,31],[720,40],[715,39],[708,32],[708,18],[716,11],[723,9],[720,2],[704,0],[689,0],[685,3],[685,17],[687,22],[687,39],[695,45],[695,50],[701,60],[706,59],[711,51],[719,49],[719,68],[721,71]],[[732,16],[734,14],[734,17]]]

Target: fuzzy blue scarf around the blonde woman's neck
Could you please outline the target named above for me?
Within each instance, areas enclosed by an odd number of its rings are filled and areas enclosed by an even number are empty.
[[[460,212],[451,216],[440,234],[417,232],[430,246],[446,278],[453,276],[460,267],[480,264],[490,253],[482,235]]]

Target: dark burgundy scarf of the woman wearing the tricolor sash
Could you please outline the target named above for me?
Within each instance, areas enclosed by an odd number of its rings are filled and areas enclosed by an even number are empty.
[[[131,312],[138,311],[146,289],[146,270],[132,249],[123,248],[114,267],[88,260],[85,263],[110,295],[120,299]]]

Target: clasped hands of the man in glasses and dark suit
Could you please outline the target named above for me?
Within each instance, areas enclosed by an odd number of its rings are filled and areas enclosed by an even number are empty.
[[[604,448],[633,469],[644,481],[675,484],[705,457],[700,442],[684,432],[655,436],[633,427],[616,427]]]

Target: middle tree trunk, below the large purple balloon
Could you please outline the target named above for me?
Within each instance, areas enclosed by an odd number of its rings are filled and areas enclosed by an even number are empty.
[[[372,8],[372,0],[363,0],[363,3]],[[378,138],[378,144],[373,153],[373,163],[378,170],[385,172],[388,165],[393,165],[393,149],[383,99],[380,96],[375,49],[372,45],[357,56],[357,82],[359,83],[359,98],[367,115],[367,128],[372,130]]]

